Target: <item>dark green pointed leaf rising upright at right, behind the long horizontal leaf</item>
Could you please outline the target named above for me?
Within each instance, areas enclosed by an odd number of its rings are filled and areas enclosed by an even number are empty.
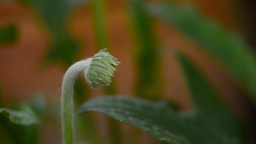
[[[195,110],[208,118],[208,122],[212,123],[212,129],[216,129],[215,131],[241,137],[243,128],[240,122],[221,102],[219,95],[213,90],[200,69],[182,54],[177,54],[177,58],[184,71]]]

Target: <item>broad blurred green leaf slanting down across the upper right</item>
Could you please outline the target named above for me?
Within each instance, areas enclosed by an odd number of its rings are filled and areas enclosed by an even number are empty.
[[[184,35],[214,56],[232,76],[244,85],[256,102],[256,59],[245,42],[206,19],[189,5],[154,3],[147,5],[151,16],[177,27]]]

